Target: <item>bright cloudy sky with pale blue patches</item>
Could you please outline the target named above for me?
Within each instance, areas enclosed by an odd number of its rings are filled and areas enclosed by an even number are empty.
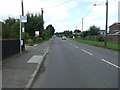
[[[118,22],[118,2],[108,0],[108,28]],[[52,24],[56,32],[75,29],[83,31],[95,25],[105,30],[106,0],[23,0],[25,15],[41,13],[44,10],[45,28]],[[96,6],[94,6],[96,4]],[[8,17],[19,18],[21,15],[21,0],[0,0],[0,21]]]

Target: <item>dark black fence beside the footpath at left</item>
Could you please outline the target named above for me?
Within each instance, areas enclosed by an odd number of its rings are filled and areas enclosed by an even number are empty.
[[[22,50],[24,45],[22,45]],[[19,39],[9,39],[2,40],[2,60],[18,54],[20,52],[20,40]]]

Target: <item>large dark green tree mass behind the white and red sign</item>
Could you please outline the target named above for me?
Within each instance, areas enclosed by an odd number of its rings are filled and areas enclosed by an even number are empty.
[[[29,33],[30,37],[35,36],[35,31],[40,31],[40,35],[44,31],[44,21],[40,14],[27,14],[27,23],[25,23],[25,32]]]

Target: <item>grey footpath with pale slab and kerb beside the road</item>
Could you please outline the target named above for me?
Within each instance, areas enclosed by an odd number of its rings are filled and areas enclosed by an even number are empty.
[[[48,53],[50,42],[49,40],[34,47],[27,46],[28,52],[4,60],[2,88],[30,88]]]

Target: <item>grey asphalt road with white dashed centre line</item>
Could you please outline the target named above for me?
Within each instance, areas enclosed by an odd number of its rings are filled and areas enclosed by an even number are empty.
[[[118,52],[72,40],[51,40],[32,88],[118,88]]]

